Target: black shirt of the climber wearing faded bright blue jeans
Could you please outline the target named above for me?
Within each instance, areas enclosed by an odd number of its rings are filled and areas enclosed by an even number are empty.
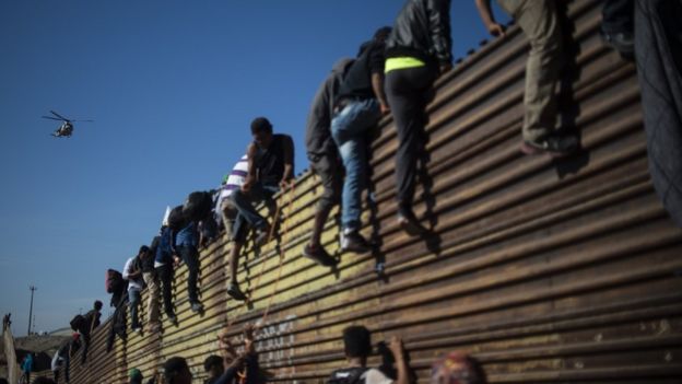
[[[362,45],[361,54],[341,83],[339,98],[374,98],[372,74],[384,73],[385,44],[376,40]]]

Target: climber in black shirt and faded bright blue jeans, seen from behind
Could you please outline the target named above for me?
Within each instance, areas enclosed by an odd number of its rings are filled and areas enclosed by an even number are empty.
[[[384,92],[384,55],[390,27],[381,27],[364,43],[357,59],[348,70],[334,101],[331,136],[339,148],[345,179],[341,193],[341,249],[368,252],[362,236],[362,193],[367,183],[367,136],[389,112]]]

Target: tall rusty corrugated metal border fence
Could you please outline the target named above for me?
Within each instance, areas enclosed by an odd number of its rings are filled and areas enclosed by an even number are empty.
[[[561,118],[579,130],[581,153],[520,153],[528,47],[511,27],[436,83],[415,203],[433,235],[409,237],[396,225],[398,143],[387,118],[373,144],[363,216],[377,251],[342,255],[336,269],[302,256],[321,194],[306,172],[295,196],[279,198],[280,236],[242,257],[250,306],[226,294],[231,244],[220,240],[201,253],[203,316],[189,310],[181,267],[179,326],[129,334],[107,353],[105,323],[89,362],[72,363],[71,382],[125,383],[130,368],[149,377],[173,356],[201,379],[217,331],[232,324],[238,335],[271,302],[257,348],[277,382],[322,382],[343,364],[341,330],[364,324],[375,341],[404,338],[421,383],[454,349],[480,360],[491,383],[680,383],[682,231],[654,194],[635,67],[601,42],[600,7],[577,0],[566,11]],[[322,236],[331,251],[333,216]]]

